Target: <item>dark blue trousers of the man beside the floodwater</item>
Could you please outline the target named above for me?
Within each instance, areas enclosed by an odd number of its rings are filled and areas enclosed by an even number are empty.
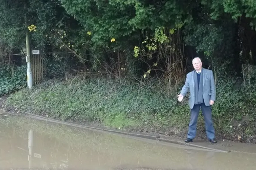
[[[205,130],[208,139],[215,138],[215,130],[214,125],[212,123],[211,118],[211,106],[205,106],[205,104],[194,105],[193,109],[190,109],[190,123],[188,127],[187,138],[194,139],[196,137],[197,132],[197,120],[200,108],[202,109],[204,122],[205,122]]]

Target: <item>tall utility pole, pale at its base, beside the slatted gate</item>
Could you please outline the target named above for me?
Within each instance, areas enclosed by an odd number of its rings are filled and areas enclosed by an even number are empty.
[[[25,4],[25,11],[27,12],[27,4]],[[33,87],[33,77],[32,77],[32,69],[31,69],[31,58],[30,58],[30,41],[29,41],[29,31],[28,31],[28,17],[27,13],[25,14],[25,27],[26,27],[26,61],[27,61],[27,83],[28,87],[31,89]]]

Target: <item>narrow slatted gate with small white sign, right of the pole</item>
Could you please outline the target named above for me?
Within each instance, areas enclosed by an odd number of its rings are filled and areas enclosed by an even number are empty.
[[[33,84],[40,84],[44,81],[45,66],[44,66],[44,56],[39,50],[32,50],[31,56],[31,69],[33,75]]]

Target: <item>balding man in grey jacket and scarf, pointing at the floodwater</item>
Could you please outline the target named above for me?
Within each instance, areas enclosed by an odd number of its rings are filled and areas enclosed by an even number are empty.
[[[194,58],[192,63],[195,70],[187,74],[185,85],[178,95],[178,100],[181,102],[188,90],[190,91],[188,102],[190,108],[190,123],[185,142],[192,142],[196,137],[197,120],[201,108],[207,137],[211,143],[217,143],[211,119],[211,105],[213,105],[216,100],[214,74],[212,70],[202,68],[202,61],[199,57]]]

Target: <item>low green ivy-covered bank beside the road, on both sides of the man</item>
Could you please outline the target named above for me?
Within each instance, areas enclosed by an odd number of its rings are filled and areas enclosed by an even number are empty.
[[[235,81],[217,83],[213,117],[217,136],[255,141],[255,89],[233,89]],[[157,131],[185,137],[189,122],[187,99],[177,102],[178,92],[167,94],[161,83],[132,83],[109,79],[46,82],[32,91],[20,90],[6,101],[10,108],[79,123],[97,122],[124,130]],[[245,98],[246,97],[246,98]],[[198,136],[205,137],[199,117]]]

